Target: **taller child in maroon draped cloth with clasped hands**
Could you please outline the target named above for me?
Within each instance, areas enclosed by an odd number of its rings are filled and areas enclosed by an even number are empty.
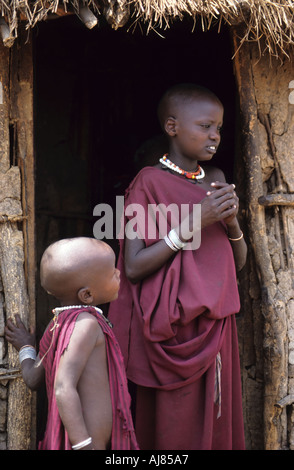
[[[187,219],[170,224],[164,237],[157,227],[156,239],[127,234],[121,243],[120,297],[109,318],[136,384],[138,443],[141,449],[243,449],[235,263],[242,268],[247,249],[234,185],[219,169],[204,167],[220,144],[223,106],[207,89],[177,85],[163,96],[159,119],[169,153],[139,172],[125,207],[137,204],[147,213],[150,205],[189,204],[196,236],[192,206],[201,204],[201,244],[186,246]]]

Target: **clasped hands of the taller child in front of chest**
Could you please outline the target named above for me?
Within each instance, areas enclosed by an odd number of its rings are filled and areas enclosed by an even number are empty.
[[[211,191],[207,192],[207,197],[201,203],[202,227],[219,220],[230,225],[239,209],[235,185],[216,181],[211,186]]]

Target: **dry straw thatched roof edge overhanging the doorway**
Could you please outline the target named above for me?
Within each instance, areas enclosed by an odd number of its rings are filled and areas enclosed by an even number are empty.
[[[30,29],[50,15],[76,13],[87,23],[87,9],[88,27],[97,23],[93,15],[104,15],[114,28],[128,29],[140,22],[148,32],[188,16],[205,30],[215,23],[243,24],[241,43],[263,42],[273,55],[287,53],[294,43],[293,0],[0,0],[0,8],[0,30],[8,47],[17,37],[20,21]]]

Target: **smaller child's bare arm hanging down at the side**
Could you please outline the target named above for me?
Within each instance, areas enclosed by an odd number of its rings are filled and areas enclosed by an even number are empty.
[[[84,420],[78,383],[93,349],[102,340],[103,332],[93,315],[80,314],[57,369],[54,386],[56,402],[72,446],[92,437]],[[91,404],[88,403],[88,406]],[[84,450],[91,448],[91,445],[83,447]]]

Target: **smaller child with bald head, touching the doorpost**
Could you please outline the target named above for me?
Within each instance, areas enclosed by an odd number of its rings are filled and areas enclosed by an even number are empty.
[[[46,378],[48,418],[39,448],[137,449],[120,349],[95,307],[118,295],[113,250],[91,238],[60,240],[43,254],[41,284],[61,307],[53,310],[38,357],[34,335],[18,316],[6,326],[27,386],[35,390]]]

